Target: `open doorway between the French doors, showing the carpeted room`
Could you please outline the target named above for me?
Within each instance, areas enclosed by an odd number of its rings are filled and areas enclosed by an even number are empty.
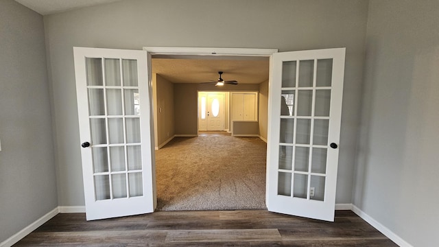
[[[191,61],[187,61],[187,58],[187,56],[171,56],[171,58],[163,55],[152,56],[157,210],[266,209],[268,57],[191,56],[189,59]],[[171,73],[160,72],[165,67],[163,62],[166,59],[173,64],[171,67],[175,77]],[[209,62],[213,64],[228,64],[228,69],[215,67],[211,72],[200,71],[202,69],[206,71],[206,60],[210,60]],[[250,61],[264,64],[263,71],[265,71],[265,75],[261,76],[261,69],[253,69],[256,75],[252,76],[257,78],[252,80],[253,83],[239,78],[237,79],[239,85],[225,85],[222,88],[200,83],[215,78],[218,69],[231,71],[226,73],[226,76],[235,75],[233,77],[235,79],[240,72],[244,73],[242,64],[251,63]],[[198,67],[198,73],[193,71],[194,67],[185,67],[186,71],[191,71],[191,75],[202,77],[202,81],[189,79],[190,82],[185,82],[190,77],[189,73],[176,72],[178,62],[186,65],[204,64]],[[241,67],[236,64],[241,64]],[[182,78],[178,79],[176,74],[182,75]],[[261,90],[261,87],[264,89]],[[165,97],[163,91],[169,95]],[[254,121],[257,134],[248,137],[231,136],[231,113],[228,104],[232,91],[241,93],[261,91],[263,100],[256,109],[259,113],[262,108],[263,114],[261,119]],[[195,97],[190,99],[189,95]],[[164,119],[159,119],[170,109],[174,111],[174,115],[168,116],[174,122],[174,129],[173,126],[166,127],[161,124]],[[260,122],[261,128],[259,128]],[[161,130],[163,126],[169,130]],[[161,137],[164,133],[165,137]]]

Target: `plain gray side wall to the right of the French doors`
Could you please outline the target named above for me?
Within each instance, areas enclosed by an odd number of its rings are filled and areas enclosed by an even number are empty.
[[[370,1],[353,203],[439,246],[439,1]]]

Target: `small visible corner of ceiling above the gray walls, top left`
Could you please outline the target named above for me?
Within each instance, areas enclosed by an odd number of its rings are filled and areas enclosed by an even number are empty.
[[[120,0],[15,0],[40,14],[54,14]]]

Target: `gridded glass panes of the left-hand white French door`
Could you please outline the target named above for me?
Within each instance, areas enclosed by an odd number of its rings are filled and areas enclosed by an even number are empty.
[[[143,196],[137,60],[86,58],[95,200]]]

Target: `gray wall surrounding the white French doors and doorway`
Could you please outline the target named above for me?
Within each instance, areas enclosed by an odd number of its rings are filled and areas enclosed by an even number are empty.
[[[368,1],[362,0],[133,0],[45,16],[59,204],[84,205],[73,46],[244,47],[280,51],[346,47],[337,203],[350,203],[367,10]],[[216,13],[224,13],[226,18],[215,18]],[[175,86],[174,92],[177,89]],[[178,100],[178,94],[175,97]],[[196,116],[196,102],[193,109]],[[196,124],[196,117],[193,121]],[[176,114],[176,134],[182,132],[178,126]]]

